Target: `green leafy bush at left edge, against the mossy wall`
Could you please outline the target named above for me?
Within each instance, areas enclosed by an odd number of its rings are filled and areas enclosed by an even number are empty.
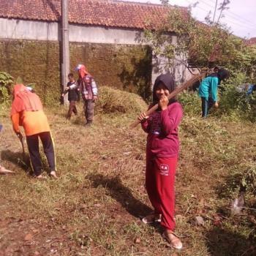
[[[11,86],[13,78],[7,72],[0,72],[0,102],[8,102],[10,100]]]

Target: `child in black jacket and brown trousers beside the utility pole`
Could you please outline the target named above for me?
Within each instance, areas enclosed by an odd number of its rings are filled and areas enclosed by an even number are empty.
[[[78,115],[78,110],[75,106],[76,102],[79,100],[79,91],[78,91],[78,83],[74,79],[74,75],[69,73],[68,75],[69,82],[67,83],[67,88],[65,89],[62,97],[65,96],[68,92],[68,100],[69,100],[69,110],[67,112],[67,119],[71,118],[72,113],[75,113],[75,116]]]

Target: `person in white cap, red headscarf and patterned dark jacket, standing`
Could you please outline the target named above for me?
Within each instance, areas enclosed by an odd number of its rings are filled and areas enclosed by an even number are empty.
[[[94,102],[98,99],[97,85],[83,64],[78,64],[75,70],[78,71],[78,88],[84,100],[86,126],[91,126],[94,118]]]

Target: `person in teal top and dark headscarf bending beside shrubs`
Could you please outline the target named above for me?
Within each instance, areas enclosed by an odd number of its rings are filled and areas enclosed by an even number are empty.
[[[207,118],[208,111],[215,106],[219,107],[218,103],[218,86],[222,80],[229,77],[227,69],[218,69],[208,77],[204,78],[200,83],[198,94],[202,100],[202,117]]]

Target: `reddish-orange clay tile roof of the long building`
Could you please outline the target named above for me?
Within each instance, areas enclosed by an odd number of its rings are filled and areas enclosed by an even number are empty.
[[[160,4],[69,0],[69,23],[145,29],[149,20],[156,26],[161,23],[168,10]],[[0,18],[57,21],[60,17],[61,0],[0,0]]]

